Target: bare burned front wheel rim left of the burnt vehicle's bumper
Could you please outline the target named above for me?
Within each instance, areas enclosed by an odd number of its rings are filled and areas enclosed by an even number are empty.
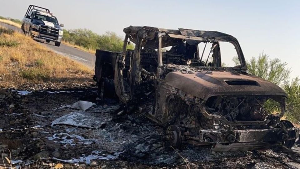
[[[170,125],[167,128],[166,134],[171,146],[176,148],[181,147],[182,136],[181,131],[177,125]]]

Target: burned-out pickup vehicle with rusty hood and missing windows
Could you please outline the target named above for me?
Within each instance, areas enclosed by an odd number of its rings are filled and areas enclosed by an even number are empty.
[[[236,38],[146,26],[124,32],[122,52],[96,51],[99,93],[138,105],[165,127],[172,146],[212,145],[214,151],[292,147],[299,129],[281,120],[286,93],[247,73]],[[127,49],[131,42],[133,50]],[[222,62],[231,62],[229,56],[235,56],[232,66]]]

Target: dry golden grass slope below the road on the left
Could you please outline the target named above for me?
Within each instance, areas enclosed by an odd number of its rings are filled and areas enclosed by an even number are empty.
[[[2,31],[2,32],[1,32]],[[92,70],[47,49],[30,37],[0,27],[0,87],[27,82],[92,79]]]

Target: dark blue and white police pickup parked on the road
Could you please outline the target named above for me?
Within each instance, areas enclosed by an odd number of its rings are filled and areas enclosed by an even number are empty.
[[[47,8],[29,5],[22,19],[22,33],[32,38],[45,39],[47,43],[53,41],[55,46],[60,46],[63,39],[63,24]]]

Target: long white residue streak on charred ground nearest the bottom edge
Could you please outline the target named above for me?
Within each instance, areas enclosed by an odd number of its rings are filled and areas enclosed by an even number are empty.
[[[118,156],[125,152],[116,152],[113,155],[106,155],[106,154],[101,154],[102,151],[93,151],[91,155],[89,156],[82,156],[79,157],[79,159],[73,158],[71,160],[63,160],[63,159],[58,159],[53,157],[52,159],[58,160],[58,161],[63,161],[63,162],[68,162],[68,163],[80,163],[80,162],[85,162],[86,164],[90,164],[91,160],[114,160],[118,158]]]

